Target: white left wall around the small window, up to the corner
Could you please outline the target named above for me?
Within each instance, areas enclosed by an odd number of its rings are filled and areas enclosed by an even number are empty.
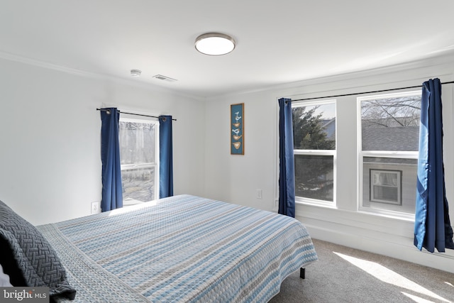
[[[0,60],[1,201],[32,224],[90,214],[101,200],[103,104],[177,119],[175,194],[203,195],[205,124],[194,117],[204,101],[72,72]]]

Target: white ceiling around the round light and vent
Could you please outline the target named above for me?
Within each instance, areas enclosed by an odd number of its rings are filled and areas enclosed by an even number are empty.
[[[208,32],[236,49],[201,55],[194,40]],[[128,79],[139,69],[135,81],[196,97],[453,51],[453,0],[0,0],[0,57]]]

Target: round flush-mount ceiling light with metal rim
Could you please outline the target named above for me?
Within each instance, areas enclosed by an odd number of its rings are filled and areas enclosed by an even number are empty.
[[[223,33],[204,33],[196,38],[195,47],[205,55],[226,55],[235,49],[235,40]]]

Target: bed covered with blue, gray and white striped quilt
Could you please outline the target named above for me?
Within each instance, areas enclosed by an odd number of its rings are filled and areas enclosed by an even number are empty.
[[[317,260],[296,219],[191,195],[36,229],[65,269],[56,302],[267,302]]]

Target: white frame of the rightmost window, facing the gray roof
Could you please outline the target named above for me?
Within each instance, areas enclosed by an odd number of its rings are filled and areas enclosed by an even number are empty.
[[[375,94],[366,97],[357,97],[357,143],[358,143],[358,203],[357,211],[364,212],[367,214],[379,214],[382,216],[392,216],[397,219],[414,219],[414,214],[404,211],[394,211],[389,209],[377,209],[368,206],[363,206],[363,186],[364,186],[364,158],[405,158],[405,159],[416,159],[418,160],[419,151],[408,151],[408,150],[362,150],[362,107],[361,102],[373,99],[384,99],[399,96],[415,96],[421,95],[421,91],[405,91],[405,92],[394,92],[389,94]],[[402,182],[402,178],[401,178]],[[416,177],[415,177],[416,182]],[[369,184],[370,186],[370,184]],[[401,189],[402,190],[402,189]],[[402,201],[402,197],[401,197]],[[380,203],[380,202],[379,202]],[[397,204],[394,204],[397,205]]]

